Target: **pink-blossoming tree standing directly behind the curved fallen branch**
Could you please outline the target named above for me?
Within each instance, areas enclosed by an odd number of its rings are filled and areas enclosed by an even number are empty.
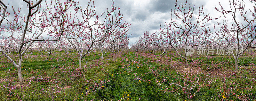
[[[196,47],[205,44],[206,38],[210,36],[210,30],[204,24],[212,18],[210,14],[204,14],[203,7],[198,9],[195,13],[195,5],[188,5],[187,0],[185,4],[175,3],[172,12],[171,23],[166,23],[166,30],[163,35],[168,37],[169,43],[177,52],[177,54],[185,59],[185,67],[188,67],[188,54],[186,52],[188,46]],[[183,50],[181,55],[178,50]]]

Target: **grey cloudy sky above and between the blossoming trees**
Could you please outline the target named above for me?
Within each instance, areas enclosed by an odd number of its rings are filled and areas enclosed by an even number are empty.
[[[4,1],[6,3],[8,2],[8,0]],[[184,1],[185,0],[178,0],[179,3]],[[244,1],[246,2],[247,8],[253,7],[247,0]],[[106,11],[106,8],[112,7],[112,0],[94,0],[94,2],[99,12]],[[170,23],[171,9],[174,9],[176,0],[114,0],[114,2],[116,7],[120,7],[124,17],[123,20],[131,24],[128,33],[131,34],[131,36],[129,36],[130,44],[133,44],[140,36],[144,35],[144,31],[153,33],[159,30],[160,24],[164,25],[165,22]],[[210,13],[213,19],[207,24],[210,27],[213,27],[214,24],[219,22],[214,20],[214,18],[220,16],[220,12],[215,10],[215,7],[220,8],[219,2],[224,8],[230,8],[229,0],[188,0],[188,3],[195,5],[195,9],[204,5],[204,12]],[[79,3],[80,5],[87,5],[88,0],[79,0]],[[23,10],[27,12],[26,5],[27,4],[21,0],[10,0],[10,6],[20,7],[21,12]],[[7,11],[12,12],[12,8],[8,8]],[[195,13],[197,13],[197,11],[198,10],[195,10]]]

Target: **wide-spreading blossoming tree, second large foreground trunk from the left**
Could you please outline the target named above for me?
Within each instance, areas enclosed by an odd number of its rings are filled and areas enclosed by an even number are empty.
[[[91,0],[85,7],[75,5],[75,10],[76,16],[81,16],[81,18],[74,17],[76,22],[70,27],[70,31],[64,34],[64,37],[78,52],[79,67],[81,67],[82,58],[92,51],[96,51],[93,49],[96,47],[95,45],[99,45],[111,36],[127,31],[126,27],[129,25],[122,21],[123,15],[119,8],[114,6],[114,1],[111,11],[107,9],[100,15],[97,15],[94,1]],[[100,18],[103,19],[102,22],[100,22]]]

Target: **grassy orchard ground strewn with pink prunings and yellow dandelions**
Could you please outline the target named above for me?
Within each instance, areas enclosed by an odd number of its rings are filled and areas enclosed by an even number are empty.
[[[12,53],[11,57],[18,57]],[[250,52],[239,58],[238,72],[231,56],[188,57],[189,67],[175,51],[163,56],[132,50],[94,52],[82,59],[78,55],[56,52],[48,57],[38,52],[23,57],[19,85],[16,68],[0,55],[0,100],[52,101],[221,101],[256,98],[256,55]],[[198,84],[192,90],[199,78]]]

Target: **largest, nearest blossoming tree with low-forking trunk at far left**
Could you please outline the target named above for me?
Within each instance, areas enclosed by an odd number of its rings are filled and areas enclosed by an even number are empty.
[[[53,4],[52,2],[48,4],[45,1],[46,6],[43,7],[41,4],[43,0],[22,1],[27,4],[28,12],[25,13],[27,16],[25,17],[24,14],[23,18],[20,12],[21,9],[13,7],[13,19],[5,19],[7,21],[7,24],[4,25],[4,28],[1,31],[4,31],[5,35],[8,34],[9,36],[11,36],[14,42],[18,44],[18,63],[16,63],[8,54],[0,49],[0,52],[2,52],[4,56],[9,59],[10,62],[17,68],[20,85],[24,84],[20,68],[22,64],[22,55],[36,41],[60,40],[60,36],[65,32],[66,28],[69,27],[69,25],[67,25],[66,23],[66,20],[68,19],[67,12],[70,6],[74,3],[71,0],[68,0],[64,3],[56,1],[55,4]],[[4,13],[5,11],[2,13],[2,15],[4,15]],[[3,17],[1,19],[1,23],[3,21]],[[55,38],[45,39],[43,36],[52,36]]]

